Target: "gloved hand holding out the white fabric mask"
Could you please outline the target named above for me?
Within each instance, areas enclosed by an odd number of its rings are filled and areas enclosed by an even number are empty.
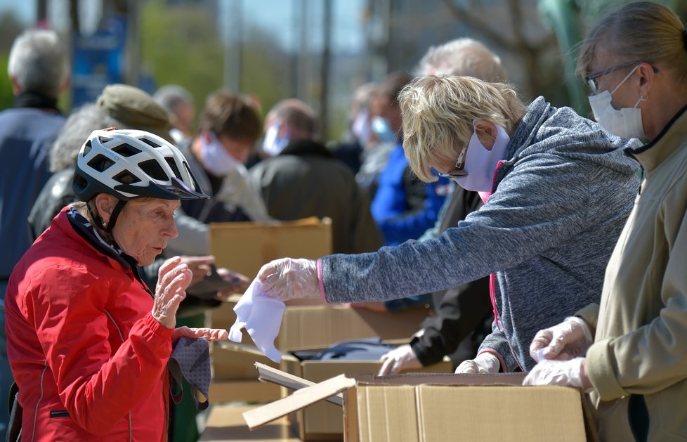
[[[257,279],[265,294],[282,301],[320,296],[318,266],[310,259],[275,259],[262,266]]]

